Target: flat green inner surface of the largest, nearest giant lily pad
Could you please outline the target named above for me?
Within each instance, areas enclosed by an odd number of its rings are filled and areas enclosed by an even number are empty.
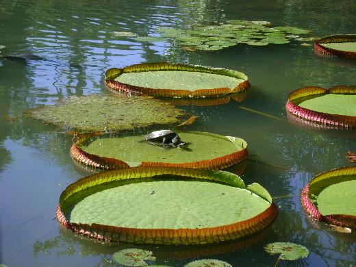
[[[244,188],[192,180],[142,181],[90,194],[71,209],[71,223],[142,229],[229,225],[264,212],[270,203]]]

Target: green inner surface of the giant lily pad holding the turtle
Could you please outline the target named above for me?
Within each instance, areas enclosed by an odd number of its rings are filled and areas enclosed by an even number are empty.
[[[188,149],[159,147],[142,142],[143,136],[99,138],[88,146],[81,147],[87,153],[101,157],[112,157],[137,166],[141,162],[186,163],[212,160],[244,149],[243,144],[231,142],[225,136],[199,132],[178,132]],[[239,140],[239,138],[236,138]]]

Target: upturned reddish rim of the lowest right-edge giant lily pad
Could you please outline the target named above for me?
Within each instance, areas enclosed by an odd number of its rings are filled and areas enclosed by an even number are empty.
[[[335,168],[333,170],[328,170],[325,173],[316,175],[316,177],[309,181],[307,186],[305,186],[301,191],[301,203],[305,211],[311,214],[317,220],[323,221],[329,225],[356,228],[356,216],[346,214],[321,214],[318,207],[316,207],[316,205],[314,205],[314,203],[309,198],[309,196],[312,194],[312,192],[310,192],[310,186],[312,186],[314,183],[317,183],[318,181],[326,181],[327,179],[333,180],[337,179],[338,177],[347,175],[355,176],[356,167],[347,166],[342,168]],[[333,181],[330,181],[330,183],[332,184]]]

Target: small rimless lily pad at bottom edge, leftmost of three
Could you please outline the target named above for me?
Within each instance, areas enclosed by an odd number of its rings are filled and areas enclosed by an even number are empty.
[[[123,249],[112,255],[112,259],[125,266],[148,266],[146,261],[154,261],[151,251],[143,249]]]

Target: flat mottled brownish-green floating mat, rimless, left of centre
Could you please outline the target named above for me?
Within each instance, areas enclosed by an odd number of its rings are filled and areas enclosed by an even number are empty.
[[[174,125],[183,120],[183,110],[149,97],[92,94],[69,97],[56,105],[29,112],[46,123],[81,131],[114,131],[150,125]]]

